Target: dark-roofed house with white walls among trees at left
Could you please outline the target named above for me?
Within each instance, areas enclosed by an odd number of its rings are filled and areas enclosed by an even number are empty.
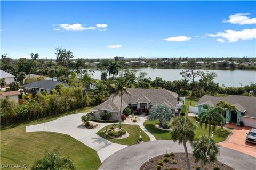
[[[23,92],[27,94],[37,94],[40,92],[52,93],[52,90],[55,88],[56,84],[63,84],[65,87],[68,86],[67,83],[53,80],[42,80],[34,81],[23,86]]]

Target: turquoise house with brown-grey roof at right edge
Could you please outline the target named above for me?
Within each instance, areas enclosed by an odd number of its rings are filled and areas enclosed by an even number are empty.
[[[204,105],[215,106],[218,101],[226,101],[236,107],[235,111],[226,111],[224,117],[226,123],[244,122],[245,126],[251,126],[256,128],[256,97],[229,95],[228,97],[215,97],[204,95],[197,103],[198,115],[202,113]]]

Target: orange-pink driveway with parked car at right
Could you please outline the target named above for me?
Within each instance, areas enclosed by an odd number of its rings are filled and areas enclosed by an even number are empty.
[[[232,126],[231,128],[234,128],[234,130],[224,142],[218,143],[219,146],[237,150],[239,152],[243,152],[244,154],[248,154],[253,157],[256,157],[256,145],[245,142],[245,138],[247,135],[246,133],[248,133],[252,128],[247,126],[243,126],[243,127]]]

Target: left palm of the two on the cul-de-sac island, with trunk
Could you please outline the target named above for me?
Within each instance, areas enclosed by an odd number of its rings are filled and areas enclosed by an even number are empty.
[[[186,116],[174,118],[171,122],[171,138],[174,142],[178,141],[179,144],[183,143],[186,159],[188,164],[188,170],[190,170],[190,163],[188,159],[188,150],[186,142],[192,142],[195,137],[195,124]]]

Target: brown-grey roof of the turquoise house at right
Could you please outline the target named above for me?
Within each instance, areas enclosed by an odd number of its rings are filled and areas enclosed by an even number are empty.
[[[238,111],[242,112],[242,116],[256,118],[256,97],[239,96],[239,95],[229,95],[228,97],[215,97],[215,96],[204,95],[198,101],[197,105],[202,105],[209,101],[211,101],[213,105],[216,105],[220,100],[226,101],[234,105]]]

